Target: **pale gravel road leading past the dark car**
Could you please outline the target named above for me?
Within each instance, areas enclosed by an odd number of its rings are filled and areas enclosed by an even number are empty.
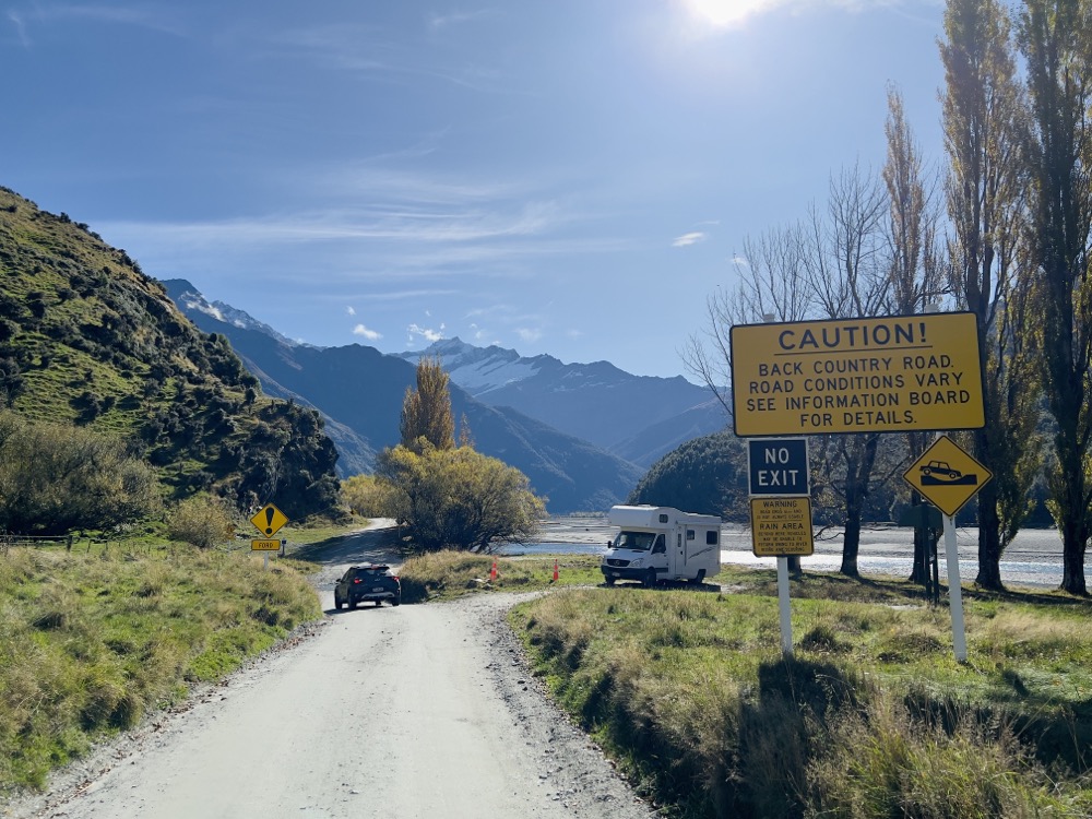
[[[377,532],[328,549],[322,624],[0,816],[652,816],[526,673],[512,595],[333,608],[344,566],[389,556]]]

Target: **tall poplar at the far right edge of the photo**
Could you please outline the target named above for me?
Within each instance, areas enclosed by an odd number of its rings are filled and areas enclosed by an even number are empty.
[[[1038,289],[1044,391],[1055,422],[1047,475],[1063,541],[1061,587],[1088,594],[1092,535],[1092,7],[1025,0],[1017,41],[1026,63],[1029,256]]]

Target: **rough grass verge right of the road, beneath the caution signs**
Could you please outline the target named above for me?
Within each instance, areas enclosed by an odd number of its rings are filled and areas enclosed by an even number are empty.
[[[786,660],[770,574],[727,570],[720,595],[568,589],[510,617],[664,815],[1092,816],[1092,605],[969,594],[960,664],[917,589],[809,575]]]

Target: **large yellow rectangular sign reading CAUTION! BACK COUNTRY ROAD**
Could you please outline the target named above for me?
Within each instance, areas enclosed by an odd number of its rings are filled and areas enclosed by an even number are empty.
[[[732,328],[741,438],[985,426],[974,313]]]

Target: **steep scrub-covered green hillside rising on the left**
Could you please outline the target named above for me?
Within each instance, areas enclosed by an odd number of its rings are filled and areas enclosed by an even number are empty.
[[[122,437],[168,501],[209,489],[294,520],[334,511],[319,416],[262,396],[123,250],[0,188],[0,410]]]

